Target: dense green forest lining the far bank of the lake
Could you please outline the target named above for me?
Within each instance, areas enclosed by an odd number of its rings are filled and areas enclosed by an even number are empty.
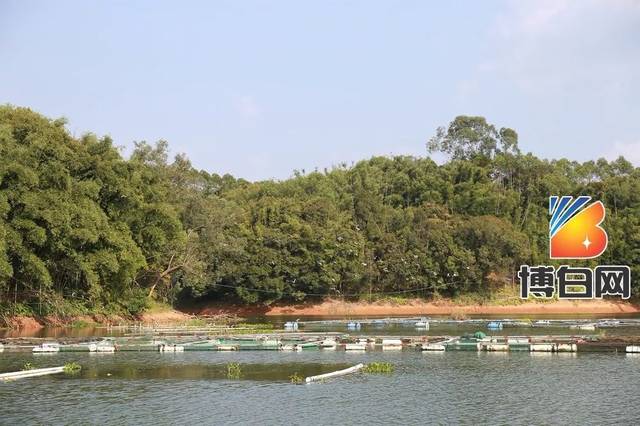
[[[550,195],[591,195],[607,208],[607,251],[572,264],[640,272],[637,168],[540,159],[483,117],[425,135],[424,157],[259,182],[170,159],[166,141],[136,142],[125,158],[109,136],[76,138],[65,126],[0,106],[2,315],[489,295],[516,285],[523,263],[558,264]]]

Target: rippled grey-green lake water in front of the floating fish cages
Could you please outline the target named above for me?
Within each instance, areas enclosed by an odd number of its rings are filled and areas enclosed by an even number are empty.
[[[637,424],[640,357],[332,351],[0,354],[0,372],[76,361],[77,376],[0,382],[0,424]],[[385,361],[294,385],[289,376]],[[239,362],[242,377],[226,378]]]

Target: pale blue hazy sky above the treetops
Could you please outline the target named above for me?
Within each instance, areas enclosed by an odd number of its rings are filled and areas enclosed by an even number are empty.
[[[640,0],[0,0],[0,103],[249,180],[425,156],[463,114],[640,165]]]

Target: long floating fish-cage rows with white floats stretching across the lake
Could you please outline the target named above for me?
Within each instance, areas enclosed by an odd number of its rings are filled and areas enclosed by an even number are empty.
[[[375,323],[374,323],[375,321]],[[348,329],[359,329],[362,324],[399,324],[403,327],[418,326],[444,322],[445,320],[433,320],[426,317],[412,319],[378,319],[378,320],[349,320],[340,323]],[[452,320],[446,320],[449,323]],[[485,321],[485,322],[481,322]],[[461,322],[456,322],[457,324]],[[465,323],[474,323],[482,329],[487,326],[490,329],[498,329],[513,326],[513,320],[470,320]],[[285,328],[297,327],[298,321],[290,321]],[[623,327],[630,324],[640,325],[637,320],[602,320],[597,323],[591,320],[538,320],[534,324],[537,326],[551,326],[552,324],[563,324],[574,329],[585,329],[584,327],[593,325],[594,327],[609,326]],[[393,334],[396,334],[394,330]],[[81,338],[67,338],[66,344],[61,342],[47,341],[43,339],[32,340],[31,345],[25,344],[24,340],[17,340],[16,344],[11,344],[11,339],[3,340],[5,352],[32,351],[39,353],[57,352],[89,352],[89,353],[115,353],[119,351],[127,352],[192,352],[192,351],[303,351],[303,350],[339,350],[348,352],[361,351],[391,351],[391,350],[420,350],[420,351],[486,351],[486,352],[546,352],[546,353],[575,353],[575,352],[610,352],[610,353],[640,353],[640,336],[593,336],[589,333],[582,335],[516,335],[516,336],[487,336],[486,330],[466,333],[461,337],[452,336],[418,336],[411,335],[410,332],[403,337],[397,335],[384,335],[378,331],[374,336],[365,336],[364,333],[348,332],[284,332],[282,330],[269,333],[247,334],[234,336],[229,334],[196,334],[191,337],[182,334],[161,334],[152,337],[146,336],[121,336],[117,338],[95,338],[93,341],[82,341]],[[626,333],[629,334],[629,333]],[[216,336],[216,337],[214,337]],[[162,339],[162,340],[161,340]],[[72,343],[72,342],[76,343]],[[9,342],[9,343],[7,343]],[[117,344],[116,344],[117,342]]]

